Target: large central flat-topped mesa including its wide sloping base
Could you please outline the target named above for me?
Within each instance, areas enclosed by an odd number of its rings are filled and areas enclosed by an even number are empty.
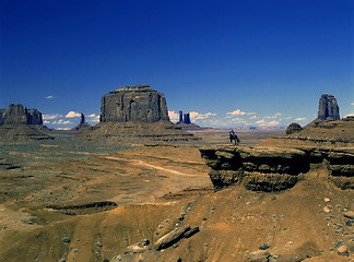
[[[79,139],[102,143],[198,140],[169,121],[164,94],[150,85],[123,86],[104,95],[99,123]]]

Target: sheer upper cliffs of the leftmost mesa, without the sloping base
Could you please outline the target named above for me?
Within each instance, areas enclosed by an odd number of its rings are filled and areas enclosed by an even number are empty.
[[[42,112],[11,104],[9,108],[0,109],[0,126],[2,124],[43,124]]]

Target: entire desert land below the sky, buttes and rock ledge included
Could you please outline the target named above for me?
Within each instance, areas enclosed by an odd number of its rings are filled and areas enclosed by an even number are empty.
[[[233,145],[172,123],[164,99],[121,87],[98,124],[61,132],[3,109],[0,261],[354,261],[354,118],[337,103]]]

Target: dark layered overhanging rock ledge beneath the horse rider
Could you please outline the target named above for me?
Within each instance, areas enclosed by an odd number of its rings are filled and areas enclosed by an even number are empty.
[[[252,191],[281,191],[306,178],[312,164],[321,163],[338,187],[354,188],[353,152],[262,146],[210,146],[200,152],[212,168],[215,188],[243,183]]]

